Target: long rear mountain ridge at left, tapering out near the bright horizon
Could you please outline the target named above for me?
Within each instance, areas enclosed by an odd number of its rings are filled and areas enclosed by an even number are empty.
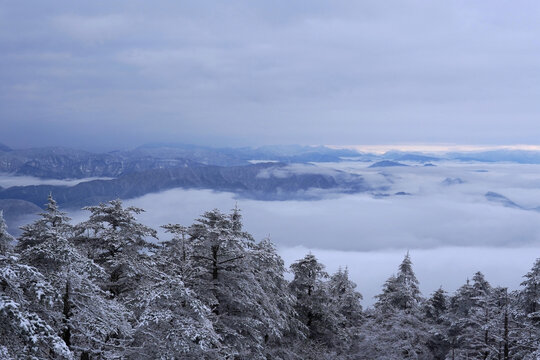
[[[250,160],[331,162],[356,155],[358,153],[352,150],[334,150],[323,146],[266,146],[253,149],[145,145],[130,151],[91,153],[62,147],[12,150],[0,144],[0,172],[52,179],[117,177],[146,170],[197,165],[249,165]]]

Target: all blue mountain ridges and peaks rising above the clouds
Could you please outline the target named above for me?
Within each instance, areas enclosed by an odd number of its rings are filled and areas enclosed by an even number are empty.
[[[387,168],[414,163],[435,166],[433,163],[447,160],[540,164],[540,152],[496,150],[433,155],[389,151],[373,154],[324,146],[213,148],[148,144],[129,151],[93,153],[62,147],[12,149],[0,144],[0,173],[46,179],[112,178],[75,186],[0,188],[0,209],[8,218],[35,213],[49,192],[65,207],[80,207],[176,187],[230,191],[261,200],[309,200],[320,197],[321,192],[373,190],[360,175],[329,172],[310,165],[313,162],[362,161],[371,162],[373,168]],[[303,168],[299,170],[294,164],[302,164]],[[445,184],[458,184],[458,180],[446,179]],[[505,206],[510,204],[493,194],[486,198]]]

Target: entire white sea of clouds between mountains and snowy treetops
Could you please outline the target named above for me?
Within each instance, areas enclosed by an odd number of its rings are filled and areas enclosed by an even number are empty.
[[[439,286],[452,292],[479,270],[493,285],[517,289],[540,257],[540,212],[533,210],[540,206],[540,165],[368,165],[316,164],[325,174],[359,174],[373,190],[334,193],[315,201],[259,201],[211,190],[172,189],[125,202],[145,209],[139,219],[154,228],[189,225],[204,211],[229,211],[237,204],[246,230],[257,240],[269,236],[287,265],[312,252],[330,273],[347,267],[365,305],[374,302],[407,251],[424,295]],[[314,169],[295,165],[279,176],[295,171]],[[395,195],[400,192],[407,195]],[[508,197],[521,208],[489,201],[487,192]],[[87,212],[70,210],[70,216],[82,221]],[[160,238],[168,235],[160,230]]]

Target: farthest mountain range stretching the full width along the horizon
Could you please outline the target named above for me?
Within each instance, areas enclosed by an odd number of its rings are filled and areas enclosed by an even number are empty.
[[[0,144],[0,173],[51,179],[118,177],[147,170],[200,165],[246,166],[253,160],[285,164],[357,160],[375,162],[377,165],[374,166],[381,167],[394,166],[393,163],[396,162],[431,164],[445,160],[540,164],[540,152],[492,150],[433,155],[392,150],[384,154],[373,154],[325,146],[214,148],[184,144],[148,144],[129,151],[93,153],[62,147],[19,150]]]

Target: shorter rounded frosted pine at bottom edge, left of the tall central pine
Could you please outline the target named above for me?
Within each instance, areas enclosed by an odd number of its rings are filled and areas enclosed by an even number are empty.
[[[205,359],[218,354],[220,338],[210,309],[187,288],[181,258],[163,247],[153,257],[130,302],[135,312],[131,359]]]

